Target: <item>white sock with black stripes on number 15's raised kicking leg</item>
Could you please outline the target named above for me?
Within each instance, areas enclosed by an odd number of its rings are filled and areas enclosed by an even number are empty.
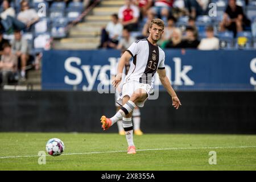
[[[110,118],[110,120],[112,121],[112,125],[114,125],[114,123],[116,123],[118,120],[121,120],[123,117],[125,117],[126,114],[131,113],[135,107],[136,105],[134,104],[134,102],[129,100],[125,105],[121,107],[121,109],[117,111],[117,113],[112,118]]]

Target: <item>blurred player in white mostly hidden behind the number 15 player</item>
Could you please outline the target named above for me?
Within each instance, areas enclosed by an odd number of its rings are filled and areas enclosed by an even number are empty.
[[[126,51],[126,49],[121,50],[121,56],[123,55],[123,53],[125,51]],[[129,72],[129,69],[130,69],[130,64],[131,64],[130,60],[126,60],[125,68],[123,69],[122,80],[125,80],[125,76],[127,75],[127,73]],[[117,75],[117,66],[113,67],[110,70],[110,75],[111,75],[112,80],[114,80],[115,76]],[[119,84],[118,86],[120,86],[120,85],[121,84]],[[119,87],[117,89],[115,89],[115,100],[118,100],[119,91],[120,91]],[[115,107],[116,107],[117,111],[121,109],[121,106],[122,105],[119,105],[118,102],[115,102]],[[143,132],[141,131],[141,111],[139,110],[139,107],[135,107],[135,109],[133,110],[133,125],[134,125],[134,134],[135,135],[143,135]],[[125,130],[123,129],[122,119],[117,121],[117,127],[118,127],[119,135],[125,135]]]

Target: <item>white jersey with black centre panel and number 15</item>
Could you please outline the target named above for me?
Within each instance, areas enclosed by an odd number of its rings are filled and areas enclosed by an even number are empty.
[[[164,51],[154,46],[147,39],[137,40],[126,50],[133,56],[125,82],[135,80],[152,85],[157,69],[164,69]]]

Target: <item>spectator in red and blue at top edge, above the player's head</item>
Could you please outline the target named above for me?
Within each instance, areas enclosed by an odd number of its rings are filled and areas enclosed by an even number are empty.
[[[155,0],[155,5],[151,10],[154,11],[154,14],[161,18],[164,23],[167,23],[173,2],[173,0]]]

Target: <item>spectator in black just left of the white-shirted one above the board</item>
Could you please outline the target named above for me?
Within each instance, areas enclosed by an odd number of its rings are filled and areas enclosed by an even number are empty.
[[[197,48],[199,43],[199,40],[195,36],[195,28],[188,26],[186,28],[185,39],[181,41],[180,46],[182,48]]]

